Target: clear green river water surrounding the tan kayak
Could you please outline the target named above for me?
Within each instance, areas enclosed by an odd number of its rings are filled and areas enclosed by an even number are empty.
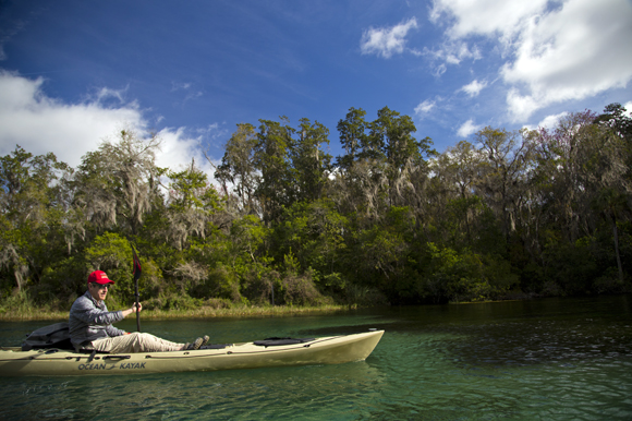
[[[0,345],[48,323],[0,323]],[[135,329],[130,317],[119,327]],[[3,420],[632,420],[632,296],[145,321],[214,342],[386,330],[362,362],[0,378]]]

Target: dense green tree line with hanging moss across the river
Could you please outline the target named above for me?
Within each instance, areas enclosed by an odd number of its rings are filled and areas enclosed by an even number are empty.
[[[236,125],[215,184],[160,140],[118,133],[72,168],[0,158],[0,310],[64,310],[87,274],[147,309],[418,304],[632,290],[632,119],[619,104],[552,129],[487,127],[441,154],[409,116],[351,108]],[[208,157],[207,157],[208,159]],[[211,163],[210,159],[208,159]],[[211,163],[212,164],[212,163]]]

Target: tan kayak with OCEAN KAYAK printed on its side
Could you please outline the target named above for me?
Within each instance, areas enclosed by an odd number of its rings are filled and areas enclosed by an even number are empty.
[[[221,349],[139,353],[80,353],[21,348],[0,350],[0,376],[149,374],[184,371],[257,369],[305,364],[340,364],[366,359],[384,330],[309,339],[278,345],[259,341]]]

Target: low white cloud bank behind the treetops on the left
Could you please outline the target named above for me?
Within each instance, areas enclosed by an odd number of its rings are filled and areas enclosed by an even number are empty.
[[[118,107],[101,104],[105,97],[122,100],[120,92],[104,88],[92,101],[63,104],[48,97],[44,84],[41,77],[29,80],[0,73],[1,156],[13,152],[19,144],[35,155],[52,152],[58,160],[76,167],[85,153],[96,151],[104,140],[112,139],[121,129],[146,134],[147,122],[135,104]],[[214,129],[217,128],[209,125],[206,131]],[[162,129],[158,135],[162,141],[157,155],[159,166],[179,169],[195,158],[199,168],[210,172],[210,165],[199,148],[200,139],[187,136],[183,128]]]

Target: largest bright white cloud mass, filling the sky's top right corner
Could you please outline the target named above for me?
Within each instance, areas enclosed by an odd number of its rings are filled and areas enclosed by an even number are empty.
[[[436,0],[430,20],[448,39],[498,41],[500,75],[514,121],[542,108],[580,100],[632,80],[629,0]],[[443,56],[446,62],[451,62]]]

